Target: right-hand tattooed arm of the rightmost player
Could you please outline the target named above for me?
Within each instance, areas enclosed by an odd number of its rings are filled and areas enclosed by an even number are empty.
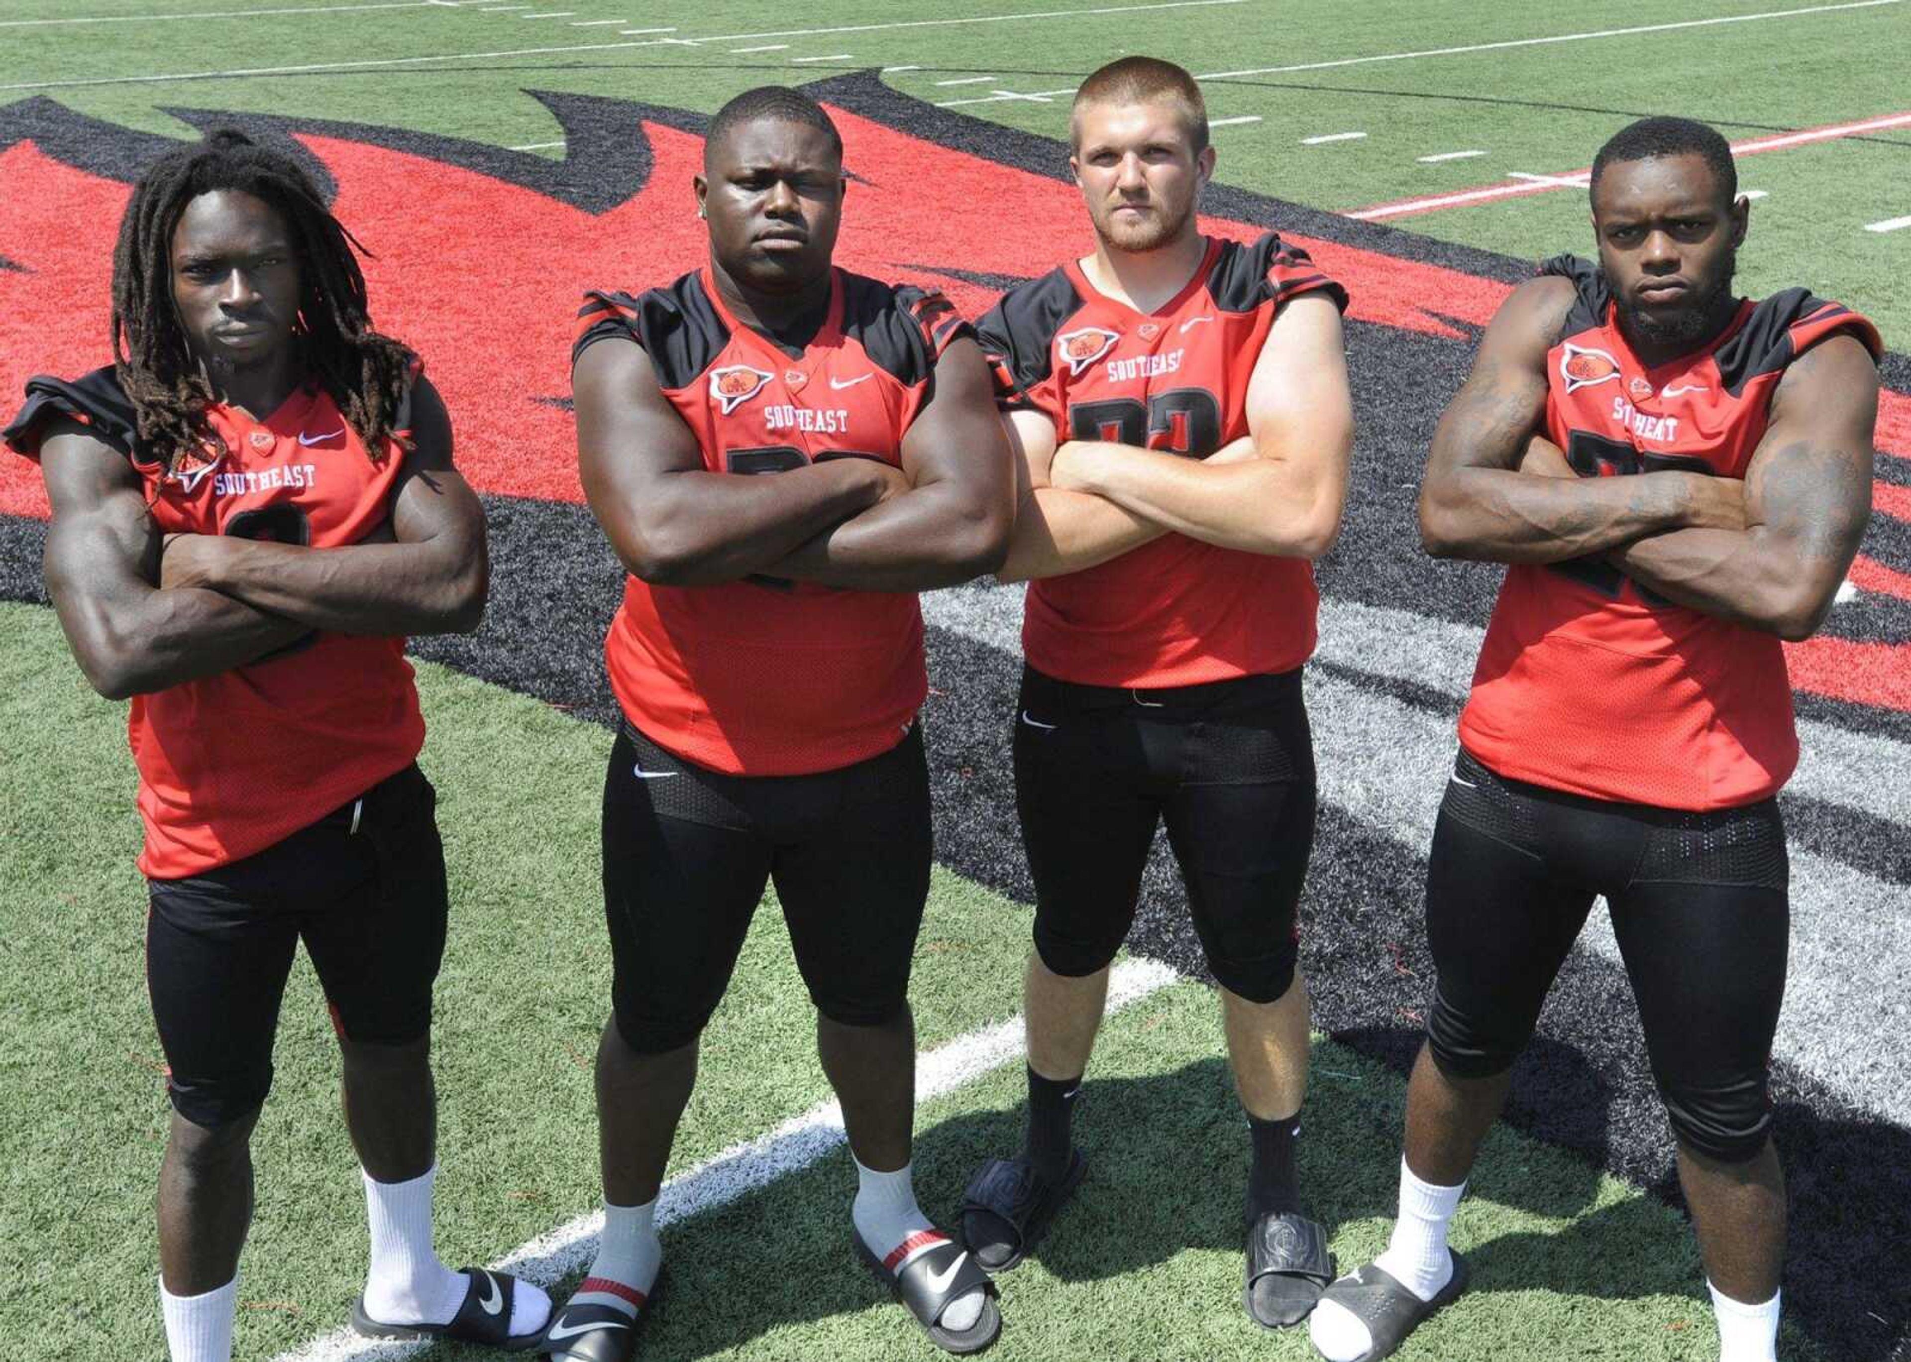
[[[1879,371],[1865,346],[1844,335],[1814,346],[1773,394],[1771,425],[1745,471],[1745,528],[1674,530],[1607,559],[1693,610],[1812,637],[1871,518],[1877,413]]]

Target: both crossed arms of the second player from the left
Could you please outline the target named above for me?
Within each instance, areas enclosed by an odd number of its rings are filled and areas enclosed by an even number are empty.
[[[902,469],[822,457],[787,472],[711,472],[634,340],[577,358],[585,497],[633,576],[711,585],[762,574],[858,591],[967,582],[1001,562],[1009,453],[975,340],[957,339],[902,436]]]

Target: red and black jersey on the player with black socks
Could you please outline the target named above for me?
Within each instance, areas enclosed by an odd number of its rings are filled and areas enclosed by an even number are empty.
[[[1248,434],[1248,379],[1288,298],[1347,291],[1267,233],[1210,239],[1194,277],[1154,312],[1099,293],[1076,262],[1009,291],[977,323],[1005,409],[1055,440],[1108,440],[1200,459]],[[1022,654],[1082,685],[1181,687],[1290,671],[1315,648],[1313,564],[1168,534],[1108,562],[1028,583]]]

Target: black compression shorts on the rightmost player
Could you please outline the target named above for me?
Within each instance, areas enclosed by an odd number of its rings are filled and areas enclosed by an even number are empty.
[[[1672,1129],[1720,1161],[1771,1121],[1785,997],[1785,826],[1773,800],[1687,813],[1506,780],[1466,750],[1433,830],[1428,1043],[1456,1077],[1506,1071],[1605,895]]]

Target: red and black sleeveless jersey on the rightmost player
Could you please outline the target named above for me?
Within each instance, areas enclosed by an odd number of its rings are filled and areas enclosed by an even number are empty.
[[[1871,321],[1789,289],[1741,302],[1716,340],[1651,369],[1619,331],[1598,266],[1557,256],[1540,274],[1578,291],[1546,352],[1546,434],[1580,476],[1743,478],[1793,360],[1836,333],[1882,354]],[[1764,800],[1798,765],[1779,639],[1592,557],[1506,570],[1460,742],[1515,780],[1691,811]]]

